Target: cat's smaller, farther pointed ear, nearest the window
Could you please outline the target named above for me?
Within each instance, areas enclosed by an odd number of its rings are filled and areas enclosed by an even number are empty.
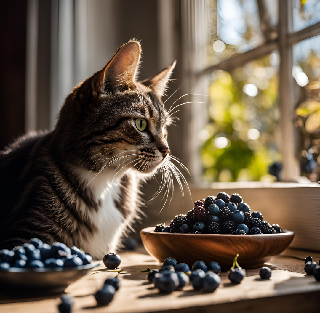
[[[166,67],[159,74],[156,74],[156,76],[148,78],[141,83],[145,86],[148,86],[156,94],[157,97],[161,98],[167,89],[168,82],[172,75],[172,71],[176,66],[176,63],[177,61],[175,60],[172,65]]]

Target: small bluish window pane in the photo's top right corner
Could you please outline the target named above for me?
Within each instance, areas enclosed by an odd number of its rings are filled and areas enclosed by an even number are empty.
[[[320,22],[320,0],[292,0],[293,32]]]

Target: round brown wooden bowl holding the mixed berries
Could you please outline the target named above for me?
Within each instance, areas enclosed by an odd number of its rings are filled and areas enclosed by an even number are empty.
[[[283,252],[294,237],[293,231],[287,230],[271,235],[225,235],[172,234],[154,229],[144,228],[140,236],[148,253],[160,262],[174,257],[178,263],[187,263],[191,268],[196,261],[206,264],[216,261],[222,270],[230,269],[237,253],[238,263],[244,269],[261,267]]]

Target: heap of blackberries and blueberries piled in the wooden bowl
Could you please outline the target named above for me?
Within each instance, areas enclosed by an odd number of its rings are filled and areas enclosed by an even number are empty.
[[[197,200],[188,214],[176,215],[167,226],[156,225],[155,231],[197,234],[259,235],[281,233],[278,224],[270,225],[259,211],[251,213],[238,193],[230,197],[226,192]]]

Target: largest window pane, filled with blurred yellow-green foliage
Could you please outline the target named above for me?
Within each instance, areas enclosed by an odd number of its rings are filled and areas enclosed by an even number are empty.
[[[273,180],[268,166],[281,160],[276,148],[279,55],[217,70],[209,86],[210,122],[200,132],[204,180]]]

